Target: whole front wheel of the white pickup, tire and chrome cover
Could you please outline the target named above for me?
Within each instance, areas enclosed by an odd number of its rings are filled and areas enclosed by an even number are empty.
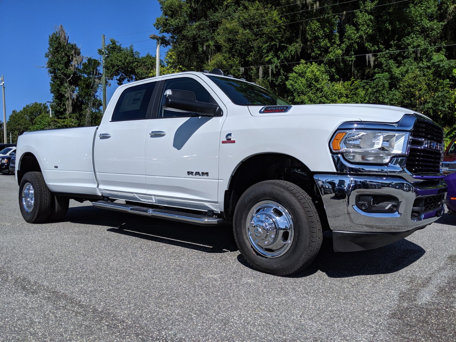
[[[233,232],[249,264],[275,275],[305,269],[323,239],[311,197],[288,181],[262,181],[247,189],[234,211]]]

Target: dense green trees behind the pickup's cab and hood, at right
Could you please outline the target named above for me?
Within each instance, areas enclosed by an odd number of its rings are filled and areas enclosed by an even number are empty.
[[[380,103],[455,135],[454,0],[159,0],[185,70],[221,68],[296,104]]]

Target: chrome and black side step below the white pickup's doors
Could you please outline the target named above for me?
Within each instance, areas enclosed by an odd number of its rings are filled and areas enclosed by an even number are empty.
[[[223,222],[222,218],[213,216],[198,215],[188,212],[178,212],[166,209],[155,209],[148,207],[134,206],[131,204],[115,203],[109,201],[92,202],[94,207],[114,210],[118,212],[130,212],[131,214],[164,218],[166,220],[180,221],[186,223],[200,224],[205,226],[216,226]]]

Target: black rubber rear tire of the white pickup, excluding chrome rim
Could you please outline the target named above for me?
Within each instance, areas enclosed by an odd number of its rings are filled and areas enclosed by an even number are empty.
[[[22,204],[22,190],[27,183],[30,183],[34,190],[34,205],[30,212]],[[24,220],[28,223],[40,223],[46,221],[51,213],[52,195],[44,181],[41,172],[27,172],[19,186],[19,207]]]

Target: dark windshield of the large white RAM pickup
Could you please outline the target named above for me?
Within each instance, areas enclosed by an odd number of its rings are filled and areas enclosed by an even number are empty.
[[[269,90],[252,83],[235,78],[224,78],[212,75],[207,75],[207,77],[217,84],[234,104],[240,106],[275,106],[289,104],[283,98],[271,93]]]

